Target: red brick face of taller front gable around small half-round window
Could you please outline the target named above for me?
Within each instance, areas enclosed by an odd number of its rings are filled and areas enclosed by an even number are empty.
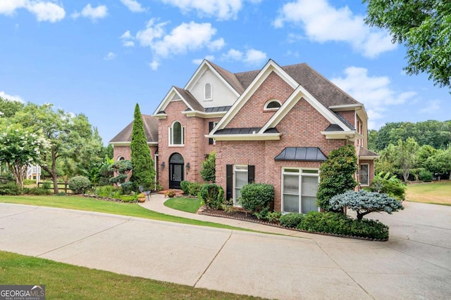
[[[264,112],[265,103],[268,100],[277,99],[283,104],[292,92],[291,86],[276,73],[271,72],[254,95],[233,117],[227,128],[262,127],[275,113],[275,111]]]

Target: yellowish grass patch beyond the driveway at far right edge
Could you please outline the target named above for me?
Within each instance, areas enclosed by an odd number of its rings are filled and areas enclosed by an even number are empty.
[[[451,205],[451,181],[408,184],[406,189],[406,200],[412,202]]]

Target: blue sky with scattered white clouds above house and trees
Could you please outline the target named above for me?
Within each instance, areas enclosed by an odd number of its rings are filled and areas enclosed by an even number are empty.
[[[449,89],[352,0],[0,0],[0,96],[83,113],[108,143],[203,58],[231,72],[308,63],[364,103],[370,129],[451,119]]]

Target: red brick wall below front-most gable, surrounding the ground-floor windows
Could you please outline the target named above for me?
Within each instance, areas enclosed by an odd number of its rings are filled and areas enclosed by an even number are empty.
[[[319,147],[327,156],[330,150],[346,144],[345,140],[326,140],[321,131],[329,122],[304,99],[292,108],[276,126],[280,141],[218,141],[216,154],[216,183],[226,188],[226,164],[255,166],[255,181],[274,185],[274,209],[281,207],[282,167],[318,169],[320,162],[276,162],[286,147]]]

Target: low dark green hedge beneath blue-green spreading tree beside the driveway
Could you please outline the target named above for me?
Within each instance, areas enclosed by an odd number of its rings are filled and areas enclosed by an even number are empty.
[[[378,240],[388,239],[388,226],[383,223],[369,219],[359,221],[334,212],[311,211],[302,218],[297,229],[312,233],[332,233]]]

